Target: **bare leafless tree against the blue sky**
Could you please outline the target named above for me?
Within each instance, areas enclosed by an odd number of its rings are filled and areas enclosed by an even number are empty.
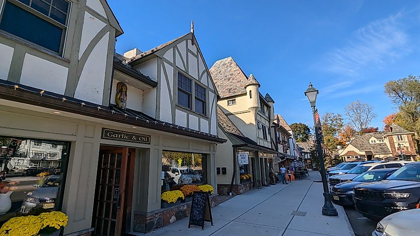
[[[350,124],[359,133],[363,133],[363,130],[367,129],[377,117],[376,113],[373,112],[373,107],[361,101],[351,102],[344,108],[344,112]]]

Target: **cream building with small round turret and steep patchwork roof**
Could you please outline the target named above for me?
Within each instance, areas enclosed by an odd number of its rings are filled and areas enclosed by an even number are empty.
[[[232,57],[215,62],[210,73],[220,95],[219,135],[228,140],[217,151],[220,194],[274,182],[274,100],[261,95],[259,82],[252,74],[247,77]]]

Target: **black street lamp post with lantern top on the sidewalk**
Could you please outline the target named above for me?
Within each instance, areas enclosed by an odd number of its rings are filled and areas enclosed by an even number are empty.
[[[309,103],[312,107],[312,115],[314,116],[314,125],[315,125],[315,137],[317,140],[317,148],[318,148],[318,157],[320,158],[320,167],[321,167],[321,177],[322,177],[322,184],[324,187],[324,206],[322,207],[322,214],[324,216],[338,216],[337,209],[334,207],[333,202],[331,201],[331,194],[330,189],[328,188],[327,183],[327,174],[325,172],[325,165],[324,165],[324,158],[322,155],[322,147],[321,147],[321,140],[318,137],[319,132],[318,130],[317,120],[315,117],[315,104],[317,102],[318,96],[318,89],[312,86],[312,83],[309,83],[308,89],[305,91],[305,95],[308,97]]]

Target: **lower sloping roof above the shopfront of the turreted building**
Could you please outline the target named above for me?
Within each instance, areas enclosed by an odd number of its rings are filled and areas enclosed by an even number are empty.
[[[219,124],[219,127],[223,129],[224,133],[235,147],[249,147],[264,152],[278,153],[271,148],[258,145],[255,141],[246,137],[232,122],[232,120],[229,119],[225,112],[223,112],[219,105],[217,105],[217,123]]]

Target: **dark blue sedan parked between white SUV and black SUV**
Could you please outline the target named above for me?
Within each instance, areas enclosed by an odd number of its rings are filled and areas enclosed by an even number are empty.
[[[333,202],[342,206],[352,206],[354,186],[362,183],[384,180],[397,169],[398,168],[373,169],[359,174],[347,182],[337,184],[331,190]]]

